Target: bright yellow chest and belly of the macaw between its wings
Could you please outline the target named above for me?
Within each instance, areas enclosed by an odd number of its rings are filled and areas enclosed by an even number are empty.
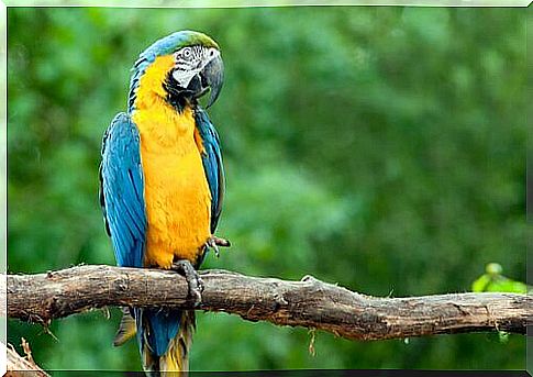
[[[162,101],[135,110],[132,119],[141,135],[148,223],[144,265],[193,263],[211,235],[211,195],[192,111],[178,113]]]

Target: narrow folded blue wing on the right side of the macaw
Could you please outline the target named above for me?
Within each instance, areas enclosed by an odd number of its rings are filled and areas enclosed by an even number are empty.
[[[225,178],[220,151],[220,140],[214,125],[206,111],[199,109],[196,112],[196,125],[203,142],[202,162],[209,189],[211,190],[211,233],[214,233],[222,212],[224,199]]]

